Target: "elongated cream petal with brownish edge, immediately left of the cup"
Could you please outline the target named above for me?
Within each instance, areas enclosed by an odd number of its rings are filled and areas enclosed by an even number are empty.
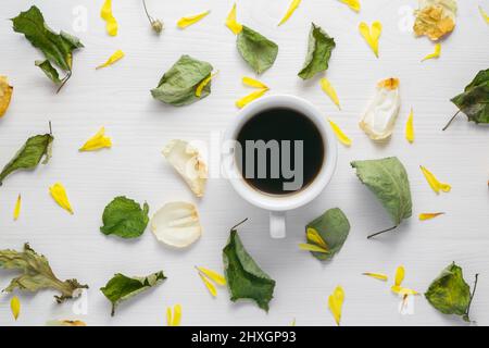
[[[202,197],[208,182],[208,166],[199,151],[188,141],[174,139],[163,149],[163,156],[181,175],[197,197]]]

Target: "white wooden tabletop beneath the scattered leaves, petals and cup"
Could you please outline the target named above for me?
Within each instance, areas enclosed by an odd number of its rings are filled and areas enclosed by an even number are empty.
[[[55,141],[53,159],[47,166],[34,173],[16,173],[0,188],[0,248],[21,249],[29,241],[48,257],[60,277],[76,277],[90,285],[86,314],[74,313],[73,302],[54,303],[52,291],[23,294],[16,325],[43,325],[51,319],[79,319],[89,325],[164,325],[165,309],[175,303],[183,306],[184,325],[288,325],[293,318],[298,325],[333,325],[327,296],[338,284],[347,296],[343,325],[460,325],[462,321],[438,313],[424,297],[415,299],[413,315],[401,315],[399,299],[389,290],[390,282],[361,275],[371,271],[393,276],[396,268],[403,264],[404,285],[425,291],[452,261],[463,266],[471,285],[474,274],[480,273],[472,316],[479,324],[489,324],[489,129],[468,124],[461,115],[449,130],[441,132],[456,111],[449,99],[479,70],[488,67],[489,27],[477,11],[479,3],[489,11],[488,1],[459,1],[459,23],[442,42],[441,59],[425,63],[421,59],[434,50],[434,45],[426,38],[414,38],[409,29],[410,13],[417,7],[414,0],[362,1],[360,14],[336,0],[304,0],[281,27],[276,24],[289,1],[238,1],[238,20],[279,45],[275,65],[261,76],[271,86],[271,94],[310,100],[353,139],[351,148],[339,145],[338,170],[324,194],[308,207],[290,212],[284,240],[268,237],[267,213],[241,200],[225,179],[211,179],[205,197],[195,199],[160,153],[172,138],[210,141],[236,116],[235,100],[250,92],[241,85],[241,77],[253,74],[235,48],[235,36],[224,26],[233,1],[148,0],[152,15],[166,24],[158,37],[140,1],[114,0],[114,15],[120,22],[115,38],[105,34],[99,17],[102,2],[17,0],[1,10],[0,74],[9,76],[14,96],[8,114],[0,120],[0,165],[27,137],[47,132],[49,120]],[[75,54],[74,75],[60,95],[34,66],[41,53],[13,33],[5,21],[33,3],[52,28],[78,36],[86,46]],[[212,13],[199,24],[185,30],[176,28],[180,16],[208,9]],[[384,24],[380,59],[374,57],[358,32],[361,21],[374,20]],[[322,92],[317,78],[304,83],[297,76],[311,22],[336,39],[327,76],[338,91],[341,111]],[[124,60],[95,70],[117,49],[126,53]],[[153,100],[149,90],[184,53],[211,62],[220,75],[205,100],[179,109],[166,107]],[[391,76],[401,79],[403,105],[392,139],[377,146],[358,122],[377,80]],[[404,138],[410,108],[415,113],[413,145]],[[79,146],[102,125],[113,139],[113,148],[79,153]],[[397,232],[367,240],[369,233],[389,226],[390,221],[349,163],[388,156],[398,156],[409,171],[414,213]],[[437,196],[418,170],[421,164],[452,184],[452,192]],[[48,187],[58,181],[67,189],[73,216],[49,196]],[[20,192],[22,214],[13,222]],[[148,201],[151,212],[172,200],[196,202],[204,234],[184,251],[160,245],[149,228],[138,240],[105,237],[99,232],[101,214],[118,195]],[[321,263],[299,250],[298,244],[304,239],[304,225],[334,207],[346,212],[352,228],[341,252],[331,262]],[[418,213],[434,211],[447,214],[417,221]],[[230,302],[226,289],[220,289],[216,299],[211,298],[193,269],[203,265],[222,270],[221,250],[228,228],[243,217],[250,219],[239,229],[247,249],[277,282],[267,314],[248,302]],[[122,304],[111,318],[110,303],[99,288],[117,272],[146,275],[158,270],[164,270],[168,279]],[[5,287],[13,275],[0,272],[0,286]],[[0,325],[14,324],[9,301],[9,295],[0,295]]]

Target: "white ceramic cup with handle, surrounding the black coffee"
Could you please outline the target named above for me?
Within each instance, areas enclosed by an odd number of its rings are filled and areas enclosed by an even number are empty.
[[[250,186],[242,177],[234,151],[224,154],[225,172],[235,190],[248,202],[269,211],[269,233],[273,238],[286,236],[286,212],[302,207],[316,198],[331,179],[338,157],[337,140],[325,116],[313,104],[294,96],[268,96],[241,109],[225,134],[225,140],[236,141],[241,127],[254,115],[276,108],[292,109],[311,120],[323,137],[325,159],[314,181],[290,195],[269,195]],[[277,125],[279,126],[279,125]],[[230,144],[230,142],[229,142]],[[227,158],[226,158],[227,157]]]

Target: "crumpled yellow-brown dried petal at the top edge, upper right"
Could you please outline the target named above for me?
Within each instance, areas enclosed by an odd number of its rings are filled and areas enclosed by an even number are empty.
[[[419,0],[414,34],[439,40],[455,28],[456,8],[455,0]]]

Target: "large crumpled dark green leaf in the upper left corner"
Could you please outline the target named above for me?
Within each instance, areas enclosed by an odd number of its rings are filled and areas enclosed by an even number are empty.
[[[35,5],[12,18],[12,23],[14,32],[24,34],[26,39],[45,54],[47,61],[66,72],[66,77],[62,80],[65,83],[72,73],[73,51],[84,47],[79,39],[64,32],[55,34],[46,24],[42,13]],[[52,78],[58,75],[58,72],[53,73],[54,67],[51,64],[48,66],[43,63],[40,67],[51,80],[60,84]]]

